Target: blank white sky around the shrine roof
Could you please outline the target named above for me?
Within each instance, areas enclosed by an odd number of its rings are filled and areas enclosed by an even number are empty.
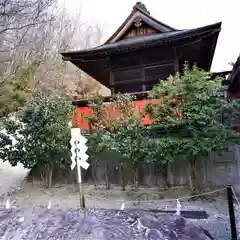
[[[64,1],[64,0],[62,0]],[[107,39],[123,23],[137,0],[65,0],[81,21],[99,24]],[[212,71],[230,70],[240,54],[240,0],[142,0],[150,14],[177,29],[190,29],[222,22]]]

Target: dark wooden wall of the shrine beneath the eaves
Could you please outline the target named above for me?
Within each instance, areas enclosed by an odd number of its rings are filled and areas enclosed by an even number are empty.
[[[175,75],[176,56],[173,48],[111,57],[110,89],[112,94],[149,91],[153,85],[169,75]]]

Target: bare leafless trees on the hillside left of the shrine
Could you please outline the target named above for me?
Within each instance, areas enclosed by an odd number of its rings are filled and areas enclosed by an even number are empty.
[[[25,84],[24,89],[30,84],[34,93],[68,97],[102,90],[98,82],[63,62],[59,54],[60,50],[100,44],[102,28],[83,22],[81,14],[70,15],[64,8],[50,6],[53,1],[0,0],[0,95],[6,96],[0,97],[0,112],[1,108],[14,109],[7,104],[12,105],[9,89],[14,89],[16,82]]]

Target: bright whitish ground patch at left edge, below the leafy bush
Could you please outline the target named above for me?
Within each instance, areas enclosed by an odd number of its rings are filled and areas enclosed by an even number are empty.
[[[29,170],[21,164],[12,167],[8,162],[0,160],[0,196],[9,195],[20,189]]]

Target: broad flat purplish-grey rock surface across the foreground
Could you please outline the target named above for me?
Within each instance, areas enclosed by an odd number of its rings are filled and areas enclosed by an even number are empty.
[[[0,210],[0,239],[210,240],[206,232],[175,214],[78,209]]]

